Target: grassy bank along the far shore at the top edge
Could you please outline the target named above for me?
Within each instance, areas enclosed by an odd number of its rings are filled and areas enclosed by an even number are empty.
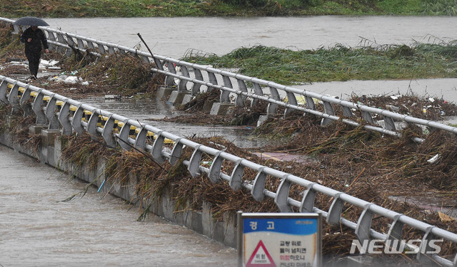
[[[456,16],[457,0],[4,0],[0,14],[14,18],[141,16]]]

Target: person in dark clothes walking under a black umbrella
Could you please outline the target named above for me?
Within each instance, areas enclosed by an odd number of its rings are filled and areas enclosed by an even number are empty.
[[[41,58],[41,44],[43,44],[46,53],[49,53],[46,35],[38,28],[38,26],[30,26],[24,31],[24,33],[22,33],[21,42],[25,43],[26,46],[25,52],[27,60],[29,61],[31,78],[36,80]]]

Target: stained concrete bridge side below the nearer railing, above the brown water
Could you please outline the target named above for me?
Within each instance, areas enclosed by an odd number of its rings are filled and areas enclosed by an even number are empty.
[[[99,162],[96,169],[91,169],[89,166],[78,167],[71,162],[61,159],[61,147],[62,142],[59,138],[58,132],[52,130],[41,130],[42,147],[38,151],[38,155],[31,149],[21,146],[14,142],[10,132],[0,133],[0,143],[11,147],[12,149],[29,155],[31,157],[38,158],[41,162],[49,164],[50,167],[54,167],[74,176],[85,182],[94,182],[97,187],[101,186],[104,181],[104,168],[106,162]],[[101,194],[106,194],[109,190],[110,194],[116,197],[120,197],[126,201],[135,199],[134,188],[136,177],[130,177],[129,183],[121,186],[120,184],[104,184],[100,190]],[[176,201],[174,199],[173,189],[169,188],[165,190],[164,194],[156,199],[152,200],[150,211],[158,216],[162,216],[169,221],[176,224],[186,226],[199,234],[204,234],[211,239],[221,242],[226,246],[236,248],[236,215],[229,216],[224,215],[224,221],[214,221],[211,214],[211,204],[205,202],[201,207],[201,211],[194,211],[191,209],[179,208],[176,211]],[[143,204],[143,206],[146,206]]]

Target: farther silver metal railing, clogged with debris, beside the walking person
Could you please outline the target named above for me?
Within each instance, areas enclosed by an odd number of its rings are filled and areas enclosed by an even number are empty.
[[[0,21],[14,23],[13,20],[4,18],[0,18]],[[14,31],[19,32],[19,27],[14,27]],[[129,53],[139,56],[146,63],[151,62],[152,59],[156,68],[151,68],[151,70],[166,76],[166,86],[174,85],[174,79],[176,78],[179,80],[177,90],[189,92],[192,95],[198,95],[203,90],[218,88],[221,90],[221,103],[231,103],[231,96],[234,96],[234,103],[238,106],[246,105],[246,99],[251,100],[251,105],[255,105],[258,100],[264,100],[268,102],[266,115],[276,114],[278,112],[278,106],[282,106],[285,108],[284,115],[293,110],[299,110],[305,114],[320,116],[322,117],[321,125],[328,125],[328,123],[335,120],[341,120],[354,127],[363,127],[366,130],[400,137],[401,132],[398,129],[398,122],[401,122],[457,134],[457,127],[443,125],[439,122],[423,120],[381,108],[373,108],[347,100],[331,98],[308,90],[300,90],[268,80],[211,68],[211,66],[201,66],[156,54],[151,55],[151,53],[145,53],[134,48],[98,41],[93,38],[79,36],[74,33],[66,33],[50,27],[39,28],[46,32],[49,38],[50,48],[65,53],[66,56],[71,56],[73,49],[76,48],[84,53],[90,52],[96,55],[105,53]],[[222,81],[221,85],[219,85],[219,81]],[[191,83],[189,88],[187,83]],[[248,85],[250,86],[248,87]],[[202,86],[206,87],[206,89],[202,89]],[[287,97],[287,102],[283,101],[284,97]],[[304,104],[298,103],[297,99],[303,99]],[[314,100],[323,103],[323,112],[318,110]],[[336,113],[334,105],[338,105],[338,110],[341,110],[341,114]],[[373,117],[381,117],[383,122],[376,121]],[[416,142],[423,141],[418,137],[414,137],[414,140]]]

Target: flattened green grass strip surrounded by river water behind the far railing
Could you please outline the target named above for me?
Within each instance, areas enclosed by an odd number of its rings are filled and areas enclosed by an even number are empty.
[[[238,68],[243,75],[285,85],[333,80],[455,78],[457,41],[356,48],[337,45],[303,51],[253,46],[221,57],[189,53],[183,60],[215,68]]]

